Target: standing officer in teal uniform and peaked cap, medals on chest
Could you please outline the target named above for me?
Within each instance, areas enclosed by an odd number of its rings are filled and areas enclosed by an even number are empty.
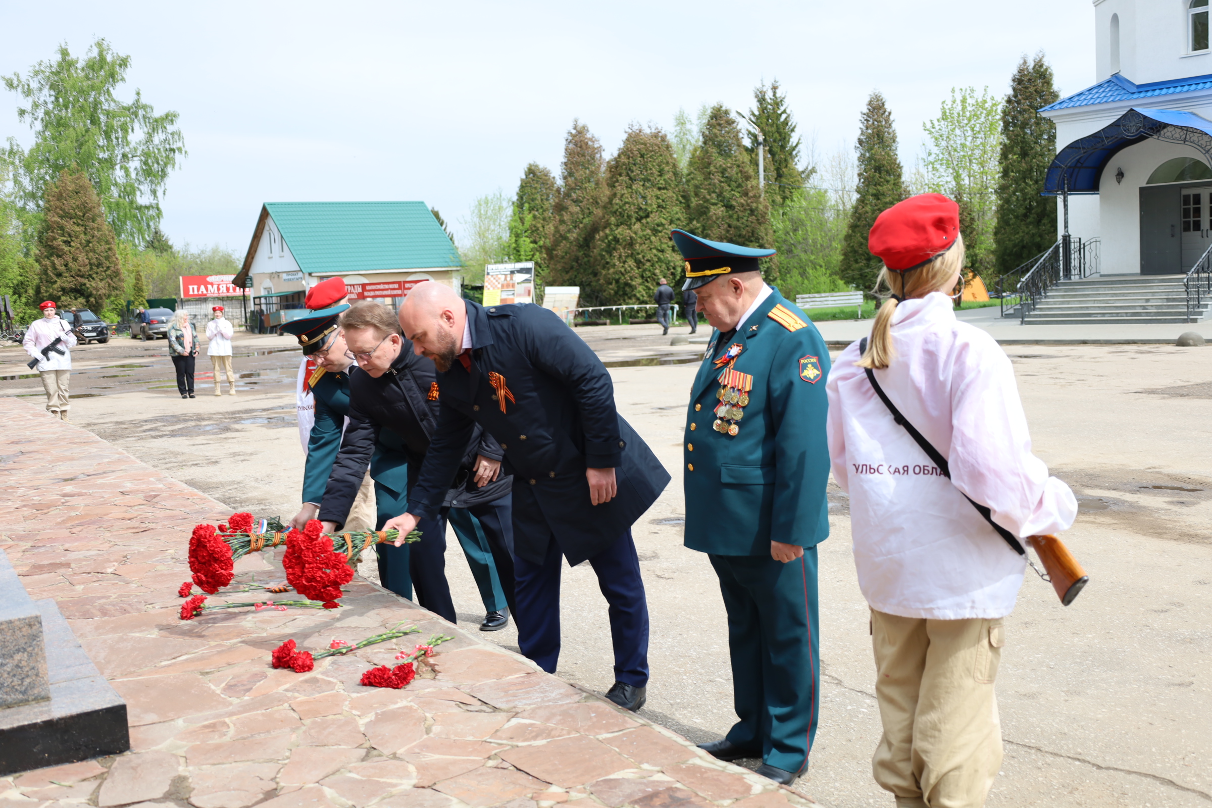
[[[686,546],[708,554],[728,613],[738,721],[703,744],[760,757],[790,783],[808,764],[821,704],[816,545],[829,535],[825,378],[816,327],[767,286],[773,250],[673,231],[684,288],[713,326],[686,413]]]

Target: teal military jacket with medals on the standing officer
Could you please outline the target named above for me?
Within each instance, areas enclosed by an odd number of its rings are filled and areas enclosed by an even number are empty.
[[[727,556],[768,556],[771,540],[811,548],[829,535],[824,340],[773,290],[727,345],[719,342],[715,331],[686,413],[686,546]],[[753,376],[753,390],[731,436],[711,429],[720,403],[713,360],[734,343],[743,348],[733,369]]]

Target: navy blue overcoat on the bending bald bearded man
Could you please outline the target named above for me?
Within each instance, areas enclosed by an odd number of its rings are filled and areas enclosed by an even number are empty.
[[[476,424],[514,475],[514,551],[543,563],[554,535],[577,565],[613,544],[669,485],[669,472],[614,408],[598,355],[554,313],[464,300],[471,367],[438,373],[438,429],[408,512],[431,516]],[[613,468],[618,495],[593,505],[585,469]]]

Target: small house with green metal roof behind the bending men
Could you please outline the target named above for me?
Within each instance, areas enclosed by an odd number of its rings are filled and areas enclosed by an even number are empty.
[[[398,304],[422,281],[459,291],[462,260],[424,202],[265,202],[233,283],[269,309],[342,277],[351,298]],[[262,306],[264,308],[264,306]]]

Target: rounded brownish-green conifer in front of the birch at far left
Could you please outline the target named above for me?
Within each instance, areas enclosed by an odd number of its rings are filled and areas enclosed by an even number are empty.
[[[63,308],[84,305],[99,313],[124,292],[114,231],[79,168],[64,168],[46,187],[38,263],[41,294]]]

